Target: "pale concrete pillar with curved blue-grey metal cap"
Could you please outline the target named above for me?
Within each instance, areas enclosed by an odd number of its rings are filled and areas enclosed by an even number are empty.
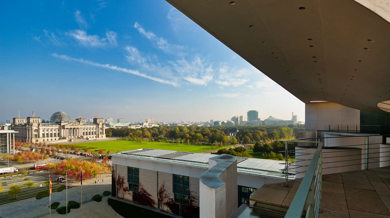
[[[209,158],[209,169],[200,175],[200,218],[227,218],[238,207],[237,158]]]

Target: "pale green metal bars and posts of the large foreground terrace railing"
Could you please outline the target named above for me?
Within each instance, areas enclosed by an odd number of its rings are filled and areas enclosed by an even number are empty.
[[[363,140],[365,138],[365,143],[359,143],[359,144],[352,144],[352,145],[342,145],[342,146],[332,146],[332,147],[323,147],[324,145],[324,139],[332,139],[332,138],[349,138],[349,137],[363,137]],[[370,141],[370,137],[382,137],[381,140],[376,138],[377,143],[373,143],[375,141]],[[291,202],[291,205],[289,206],[289,209],[285,215],[287,218],[301,218],[303,209],[306,206],[307,211],[306,211],[306,217],[307,218],[317,218],[318,214],[321,213],[321,199],[322,199],[322,175],[323,175],[323,170],[324,169],[330,169],[330,168],[337,168],[337,167],[349,167],[349,166],[355,166],[355,165],[363,165],[362,169],[369,169],[369,164],[371,163],[381,163],[381,162],[390,162],[390,159],[384,159],[381,160],[381,158],[386,158],[390,157],[388,156],[390,154],[390,146],[388,146],[390,143],[386,143],[386,137],[390,137],[390,135],[358,135],[358,136],[334,136],[334,137],[320,137],[320,138],[306,138],[306,139],[286,139],[286,140],[277,140],[277,141],[282,141],[285,142],[285,163],[280,163],[280,164],[285,164],[285,169],[282,170],[282,174],[285,177],[285,185],[288,186],[288,180],[293,179],[292,175],[298,175],[301,174],[303,177],[303,180],[301,181],[301,184],[296,192],[296,195],[294,196],[293,202]],[[305,141],[307,140],[307,141]],[[316,143],[317,146],[308,146],[306,148],[298,148],[296,150],[288,150],[287,149],[287,143],[288,142],[307,142],[307,143]],[[371,143],[370,143],[371,142]],[[379,146],[381,144],[381,146]],[[376,145],[376,146],[375,146]],[[351,149],[347,149],[345,151],[356,151],[356,149],[361,150],[362,152],[359,154],[349,154],[347,153],[346,155],[340,155],[341,153],[336,153],[336,152],[343,152],[343,150],[340,151],[326,151],[323,152],[323,148],[338,148],[338,147],[349,147]],[[354,149],[356,148],[356,149]],[[316,149],[314,153],[310,153],[308,151],[300,151],[303,149]],[[378,150],[375,152],[370,152],[373,151],[372,149],[384,149]],[[299,153],[298,155],[295,155],[294,152]],[[292,156],[289,156],[289,153],[294,153]],[[323,157],[323,153],[327,153],[326,157]],[[332,153],[335,153],[332,155]],[[382,153],[385,153],[381,156]],[[294,161],[287,161],[288,158],[293,158],[293,157],[298,157],[298,156],[304,156],[304,155],[313,155],[313,157],[310,159],[307,157],[302,157],[300,158],[295,158]],[[330,156],[329,156],[330,155]],[[322,162],[323,158],[341,158],[341,157],[347,157],[347,156],[362,156],[362,158],[351,158],[347,160],[334,160],[332,161],[331,159],[328,159],[328,162]],[[372,159],[372,160],[370,160]],[[363,160],[363,161],[359,161]],[[365,161],[364,161],[365,160]],[[310,161],[310,164],[306,165],[305,163],[297,164],[298,162],[301,161]],[[349,164],[349,163],[354,163],[351,161],[358,161],[359,163],[356,164]],[[345,163],[342,163],[345,162]],[[323,166],[323,164],[330,164],[330,163],[337,163],[337,165],[328,165],[328,166]],[[295,166],[295,169],[289,169],[290,165]],[[388,165],[388,164],[387,164]],[[376,165],[374,165],[375,167]],[[378,164],[379,166],[379,164]],[[296,171],[296,169],[301,169],[301,167],[306,167],[303,168],[303,171]],[[289,172],[293,171],[293,172]]]

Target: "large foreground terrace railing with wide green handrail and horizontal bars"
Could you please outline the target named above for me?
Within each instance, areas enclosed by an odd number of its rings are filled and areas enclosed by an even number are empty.
[[[278,140],[285,143],[285,185],[288,180],[302,178],[301,184],[285,215],[301,218],[306,208],[307,218],[317,218],[322,212],[322,176],[337,172],[372,169],[390,165],[390,135],[338,136],[323,138]],[[288,150],[288,143],[296,143]],[[357,144],[356,144],[357,143]],[[306,146],[304,146],[306,145]],[[293,159],[294,161],[288,161]],[[324,162],[323,162],[324,161]],[[291,166],[295,171],[291,172]]]

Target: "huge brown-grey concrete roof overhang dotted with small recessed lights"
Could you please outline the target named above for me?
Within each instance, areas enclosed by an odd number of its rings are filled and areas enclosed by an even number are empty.
[[[377,103],[390,100],[386,1],[230,1],[167,0],[301,101],[385,113]]]

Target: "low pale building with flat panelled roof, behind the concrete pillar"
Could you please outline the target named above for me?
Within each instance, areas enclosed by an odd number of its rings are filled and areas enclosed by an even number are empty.
[[[148,206],[177,215],[188,211],[199,213],[199,204],[206,203],[200,193],[208,190],[202,188],[206,182],[202,183],[200,178],[215,165],[210,160],[219,156],[145,148],[112,154],[115,175],[112,192],[116,197],[140,204],[140,199],[149,196]],[[230,157],[236,164],[234,173],[230,172],[235,178],[235,185],[230,187],[234,191],[230,214],[241,204],[249,204],[249,195],[265,183],[284,181],[284,174],[280,173],[283,161]]]

